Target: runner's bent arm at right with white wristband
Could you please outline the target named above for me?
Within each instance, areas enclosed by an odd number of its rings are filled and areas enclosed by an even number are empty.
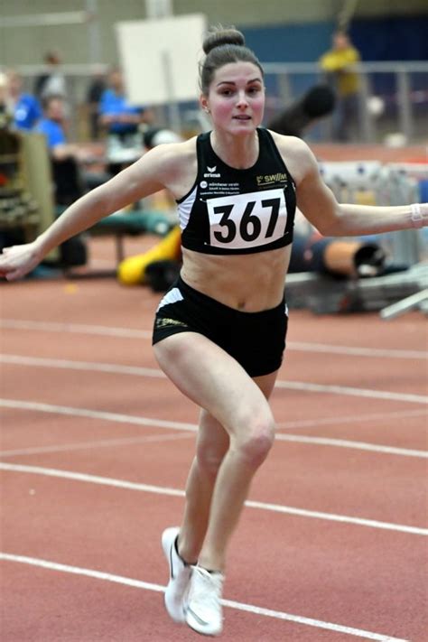
[[[358,237],[428,226],[428,203],[387,207],[338,203],[302,140],[293,139],[285,160],[296,182],[297,207],[323,236]]]

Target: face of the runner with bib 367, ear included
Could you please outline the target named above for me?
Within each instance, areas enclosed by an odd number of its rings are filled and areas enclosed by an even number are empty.
[[[230,62],[220,67],[200,98],[212,123],[231,134],[248,134],[260,125],[265,109],[262,73],[252,62]]]

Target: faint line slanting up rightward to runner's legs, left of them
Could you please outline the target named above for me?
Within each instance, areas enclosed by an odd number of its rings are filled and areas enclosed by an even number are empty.
[[[86,451],[88,448],[111,448],[112,446],[129,446],[140,443],[174,442],[181,439],[193,439],[193,433],[151,434],[146,437],[128,437],[124,439],[101,439],[98,442],[63,443],[56,446],[34,446],[21,448],[14,451],[0,451],[0,457],[14,457],[15,455],[36,455],[45,452],[70,452]]]

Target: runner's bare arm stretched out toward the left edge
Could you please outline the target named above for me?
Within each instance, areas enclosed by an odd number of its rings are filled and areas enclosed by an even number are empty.
[[[5,247],[0,276],[13,281],[38,265],[51,249],[92,227],[99,219],[163,189],[174,172],[179,144],[159,145],[112,179],[76,200],[32,243]],[[169,149],[166,149],[169,148]]]

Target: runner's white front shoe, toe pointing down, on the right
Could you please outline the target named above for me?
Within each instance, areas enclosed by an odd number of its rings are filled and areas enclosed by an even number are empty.
[[[186,606],[186,622],[204,636],[219,636],[223,628],[220,604],[224,575],[192,566],[191,588]]]

